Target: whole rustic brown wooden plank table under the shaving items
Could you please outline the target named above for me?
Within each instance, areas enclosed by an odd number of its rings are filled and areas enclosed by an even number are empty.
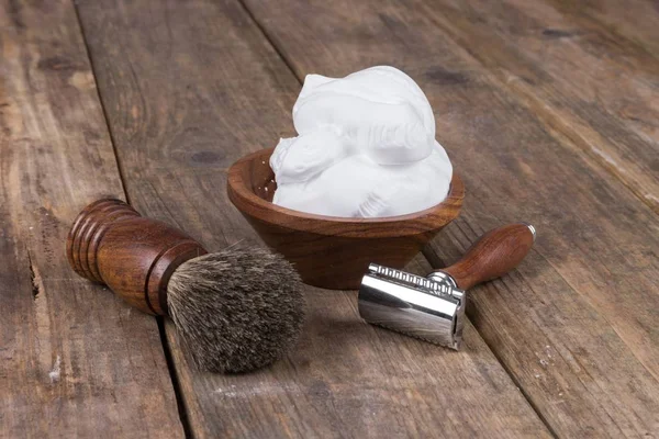
[[[652,0],[0,1],[0,436],[659,437],[659,10]],[[411,270],[536,225],[473,291],[460,352],[306,289],[294,352],[196,371],[174,326],[75,275],[101,195],[260,245],[227,167],[293,133],[304,76],[379,64],[428,95],[461,216]]]

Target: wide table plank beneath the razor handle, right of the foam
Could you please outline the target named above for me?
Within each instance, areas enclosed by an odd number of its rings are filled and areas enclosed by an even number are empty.
[[[420,82],[467,190],[462,216],[426,251],[436,267],[502,223],[538,227],[532,256],[473,291],[469,314],[551,429],[566,437],[657,434],[654,212],[501,85],[471,47],[456,45],[431,8],[375,0],[247,5],[300,77],[394,64]]]

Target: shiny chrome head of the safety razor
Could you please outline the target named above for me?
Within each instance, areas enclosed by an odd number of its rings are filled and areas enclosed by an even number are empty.
[[[459,349],[465,291],[445,273],[428,278],[371,263],[359,288],[359,315],[366,322]]]

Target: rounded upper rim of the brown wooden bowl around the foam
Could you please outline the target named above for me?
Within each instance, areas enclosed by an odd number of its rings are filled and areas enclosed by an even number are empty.
[[[249,167],[254,161],[266,162],[270,167],[270,155],[275,148],[260,149],[250,153],[235,161],[228,169],[227,192],[231,202],[244,215],[260,219],[267,224],[275,224],[294,230],[312,232],[323,235],[337,235],[336,226],[349,228],[348,233],[338,235],[359,235],[367,232],[370,236],[405,236],[427,233],[438,229],[456,218],[462,206],[465,185],[458,175],[453,172],[446,199],[434,206],[405,215],[384,216],[378,218],[351,218],[343,216],[327,216],[295,211],[277,205],[258,196],[247,187],[243,179],[243,168]],[[453,213],[453,214],[451,214]],[[437,224],[444,219],[443,224]],[[409,227],[411,221],[414,227]],[[424,227],[425,225],[425,227]]]

